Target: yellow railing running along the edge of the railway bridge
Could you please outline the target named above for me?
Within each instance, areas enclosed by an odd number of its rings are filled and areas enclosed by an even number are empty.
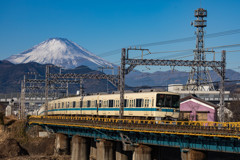
[[[168,121],[168,120],[139,120],[139,119],[118,119],[99,117],[79,117],[79,116],[31,116],[30,119],[45,120],[65,120],[88,123],[109,123],[138,126],[167,126],[185,129],[211,129],[240,132],[240,122],[209,122],[209,121]]]

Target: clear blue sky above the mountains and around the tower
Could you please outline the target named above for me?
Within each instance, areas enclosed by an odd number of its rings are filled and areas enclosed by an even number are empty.
[[[240,29],[239,6],[239,0],[201,0],[201,7],[208,10],[206,34]],[[21,53],[48,38],[63,37],[119,63],[120,52],[105,53],[135,44],[194,36],[195,28],[190,23],[195,19],[194,10],[199,7],[200,0],[1,0],[0,59]],[[239,36],[240,33],[206,38],[205,46],[238,44]],[[193,40],[149,49],[161,52],[194,47]],[[227,51],[238,49],[226,48]],[[228,68],[240,66],[239,54],[237,51],[227,54]],[[156,54],[152,58],[169,55]]]

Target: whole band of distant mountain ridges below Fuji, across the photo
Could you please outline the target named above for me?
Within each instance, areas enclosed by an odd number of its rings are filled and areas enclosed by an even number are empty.
[[[46,65],[42,65],[36,62],[30,62],[26,64],[13,64],[6,60],[0,61],[0,93],[12,93],[20,92],[21,80],[23,75],[28,72],[36,72],[42,76],[45,75]],[[53,67],[52,72],[58,73],[59,68]],[[92,70],[87,66],[79,66],[75,69],[64,70],[64,73],[91,73],[91,74],[103,74],[102,72]],[[132,74],[126,76],[126,85],[131,89],[139,86],[145,86],[145,88],[165,86],[168,84],[186,84],[188,78],[188,72],[171,72],[171,71],[158,71],[154,73],[142,73],[142,72],[132,72]],[[213,81],[219,81],[219,76],[210,71]],[[226,70],[226,78],[228,80],[239,80],[240,73],[233,70]],[[235,82],[237,83],[237,82]],[[232,85],[233,84],[233,85]],[[226,90],[234,90],[238,86],[234,86],[234,83],[229,85],[226,83]],[[126,86],[126,89],[129,87]],[[79,86],[78,86],[79,87]],[[85,80],[84,88],[87,93],[96,93],[96,92],[111,92],[116,90],[110,83],[107,83],[106,80]],[[139,87],[141,88],[141,87]]]

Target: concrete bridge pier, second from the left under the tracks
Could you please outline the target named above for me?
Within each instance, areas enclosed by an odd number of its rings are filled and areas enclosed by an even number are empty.
[[[72,154],[71,160],[88,159],[87,139],[77,135],[72,137]]]

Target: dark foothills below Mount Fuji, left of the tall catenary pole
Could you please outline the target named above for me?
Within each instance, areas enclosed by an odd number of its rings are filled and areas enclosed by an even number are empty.
[[[21,80],[23,80],[23,76],[27,75],[28,72],[35,72],[38,75],[41,75],[41,79],[43,79],[45,76],[46,65],[42,65],[36,62],[13,64],[4,60],[0,61],[0,68],[0,93],[15,93],[20,92]],[[79,66],[75,69],[68,69],[62,72],[79,74],[103,74],[99,71],[92,70],[87,66]],[[51,68],[51,73],[59,73],[59,68]],[[71,87],[71,85],[69,86]],[[76,93],[75,91],[79,89],[78,87],[79,85],[77,85],[77,87],[72,87],[72,91],[74,91],[72,93]],[[106,92],[107,89],[109,91],[115,89],[115,87],[111,83],[107,84],[106,80],[93,79],[84,80],[84,88],[86,93]]]

